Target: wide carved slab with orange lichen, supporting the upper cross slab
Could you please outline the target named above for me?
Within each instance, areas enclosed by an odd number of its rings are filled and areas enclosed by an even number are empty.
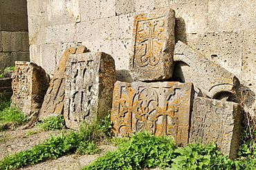
[[[179,82],[116,82],[111,121],[113,133],[138,131],[172,135],[177,144],[188,143],[192,84]]]

